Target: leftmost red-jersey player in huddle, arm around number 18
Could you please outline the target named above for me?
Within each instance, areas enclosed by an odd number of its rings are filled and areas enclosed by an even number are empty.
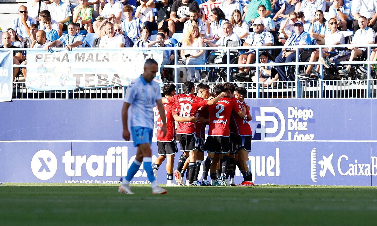
[[[165,94],[166,98],[175,96],[176,86],[173,83],[166,83],[162,87],[162,93]],[[166,186],[176,186],[177,184],[173,183],[173,164],[175,153],[178,152],[176,137],[175,137],[175,123],[177,122],[187,122],[187,121],[196,121],[196,117],[184,118],[178,115],[178,111],[175,103],[164,103],[163,104],[166,115],[166,126],[167,133],[166,136],[161,131],[162,121],[159,117],[158,106],[155,111],[156,118],[156,127],[157,127],[157,147],[158,147],[158,158],[155,161],[153,166],[153,173],[155,174],[157,180],[157,171],[162,162],[167,158],[166,162],[166,172],[167,172],[167,183]]]

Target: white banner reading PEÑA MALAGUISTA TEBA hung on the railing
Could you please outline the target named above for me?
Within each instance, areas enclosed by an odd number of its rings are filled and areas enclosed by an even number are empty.
[[[84,49],[74,51],[41,49],[27,51],[26,86],[38,91],[128,86],[143,73],[145,59],[161,67],[162,50]],[[158,71],[155,81],[162,84]]]

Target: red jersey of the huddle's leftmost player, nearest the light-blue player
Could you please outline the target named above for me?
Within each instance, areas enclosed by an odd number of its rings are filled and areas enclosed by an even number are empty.
[[[162,129],[162,121],[161,117],[158,111],[158,106],[156,107],[155,116],[157,118],[156,120],[156,126],[157,126],[157,141],[161,142],[170,142],[172,140],[175,140],[175,129],[174,129],[174,118],[173,115],[177,114],[177,108],[175,106],[175,103],[164,103],[164,109],[165,109],[165,115],[166,115],[166,127],[167,127],[167,133],[166,136],[163,137],[163,133],[161,131]]]

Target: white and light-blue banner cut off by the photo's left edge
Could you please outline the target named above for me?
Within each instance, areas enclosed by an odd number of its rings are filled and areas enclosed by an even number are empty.
[[[0,102],[12,100],[13,57],[11,50],[0,50]]]

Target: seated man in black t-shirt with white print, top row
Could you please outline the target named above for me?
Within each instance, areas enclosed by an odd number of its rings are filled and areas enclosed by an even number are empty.
[[[194,0],[176,0],[172,5],[168,27],[170,32],[182,31],[183,24],[190,19],[190,10],[196,9],[200,12],[199,5]]]

